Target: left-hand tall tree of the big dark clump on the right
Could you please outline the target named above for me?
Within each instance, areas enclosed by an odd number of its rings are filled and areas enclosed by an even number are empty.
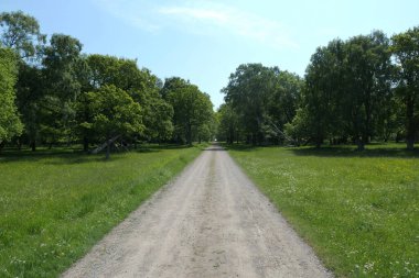
[[[294,127],[288,127],[300,140],[313,141],[316,147],[342,126],[343,47],[341,40],[334,40],[312,55],[305,70],[301,109],[292,122]]]

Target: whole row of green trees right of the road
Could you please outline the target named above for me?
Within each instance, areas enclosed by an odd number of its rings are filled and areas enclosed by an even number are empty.
[[[228,143],[357,145],[419,133],[419,27],[380,31],[318,47],[303,78],[240,65],[223,89],[218,137]]]

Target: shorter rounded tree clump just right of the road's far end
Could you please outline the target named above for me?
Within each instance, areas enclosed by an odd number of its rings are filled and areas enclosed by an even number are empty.
[[[230,75],[229,82],[223,92],[225,100],[233,109],[222,113],[232,118],[236,113],[244,135],[248,142],[282,141],[284,125],[292,121],[300,99],[303,81],[294,74],[280,71],[277,67],[268,68],[261,64],[240,65]],[[221,123],[227,121],[221,119]],[[233,126],[222,124],[227,140],[233,140]],[[236,137],[238,133],[236,132]]]

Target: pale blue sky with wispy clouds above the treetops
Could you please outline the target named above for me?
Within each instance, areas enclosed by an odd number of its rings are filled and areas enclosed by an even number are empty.
[[[164,79],[180,76],[211,94],[239,64],[262,63],[303,76],[315,48],[335,37],[419,25],[417,0],[0,0],[0,11],[35,16],[84,53],[137,58]]]

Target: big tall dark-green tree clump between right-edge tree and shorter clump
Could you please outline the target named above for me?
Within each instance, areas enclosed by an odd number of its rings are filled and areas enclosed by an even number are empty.
[[[382,32],[319,47],[307,68],[302,111],[288,126],[290,135],[316,146],[325,138],[350,137],[363,149],[383,134],[379,129],[394,123],[393,73],[389,40]]]

